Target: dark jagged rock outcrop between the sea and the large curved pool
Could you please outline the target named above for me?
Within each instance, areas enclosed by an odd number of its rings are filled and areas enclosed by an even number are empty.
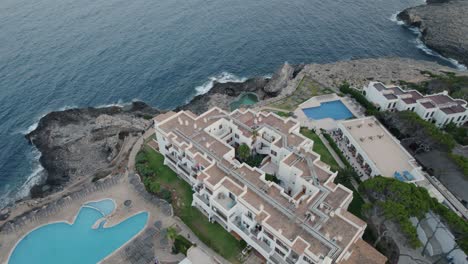
[[[46,171],[32,196],[42,196],[77,177],[106,175],[124,140],[145,131],[159,111],[142,102],[120,107],[81,108],[51,112],[26,138],[41,152]]]

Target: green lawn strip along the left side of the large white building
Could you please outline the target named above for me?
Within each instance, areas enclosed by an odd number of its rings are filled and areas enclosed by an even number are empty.
[[[217,223],[210,223],[198,209],[192,207],[192,188],[168,166],[160,153],[145,146],[138,154],[137,161],[153,174],[146,173],[143,179],[146,184],[159,184],[161,188],[172,193],[174,214],[202,240],[207,246],[233,263],[238,263],[237,255],[242,251],[245,242],[236,240],[229,232]],[[148,188],[148,187],[147,187]]]

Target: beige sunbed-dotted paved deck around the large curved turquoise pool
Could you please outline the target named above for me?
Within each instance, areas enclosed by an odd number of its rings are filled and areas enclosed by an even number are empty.
[[[44,202],[32,214],[32,217],[31,214],[28,217],[21,217],[16,220],[14,227],[2,230],[0,232],[0,263],[7,263],[15,245],[30,231],[53,222],[72,223],[84,204],[103,199],[113,199],[116,205],[115,210],[106,217],[105,227],[118,224],[142,211],[148,212],[149,218],[145,228],[138,235],[100,263],[150,263],[154,256],[157,256],[160,262],[178,263],[185,256],[171,254],[171,246],[167,243],[167,238],[160,234],[162,229],[175,225],[180,230],[179,234],[189,237],[190,241],[197,244],[217,262],[228,263],[203,244],[180,219],[174,217],[172,207],[147,193],[139,177],[133,173],[135,156],[143,145],[144,139],[148,138],[151,133],[152,130],[148,130],[128,148],[127,169],[122,174],[108,176],[96,183],[84,184],[82,188],[73,193],[67,193],[67,196],[51,195],[47,203]],[[124,205],[126,200],[132,201],[130,206]],[[18,205],[16,210],[26,213],[28,206],[32,208],[29,203]],[[161,229],[156,228],[156,222],[161,223]]]

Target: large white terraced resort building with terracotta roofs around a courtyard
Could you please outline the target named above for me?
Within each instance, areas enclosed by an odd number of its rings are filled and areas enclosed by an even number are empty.
[[[385,263],[362,240],[366,223],[347,211],[352,191],[333,183],[337,172],[295,119],[212,108],[159,115],[155,130],[165,164],[193,187],[192,205],[268,263]],[[261,168],[235,158],[244,143],[266,155]]]

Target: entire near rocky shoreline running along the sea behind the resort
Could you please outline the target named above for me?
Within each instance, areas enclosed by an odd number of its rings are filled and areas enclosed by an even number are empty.
[[[228,110],[231,102],[244,92],[257,94],[260,102],[287,96],[294,84],[307,75],[324,87],[337,87],[344,81],[362,87],[370,80],[385,83],[399,81],[421,82],[429,79],[424,71],[456,72],[455,69],[427,61],[404,58],[379,58],[342,61],[329,64],[283,65],[268,79],[256,77],[242,83],[215,83],[203,95],[175,110],[190,110],[200,114],[217,106]],[[291,88],[292,87],[292,88]],[[152,125],[152,117],[161,113],[143,102],[127,106],[82,108],[51,112],[44,116],[37,128],[26,138],[41,152],[40,162],[46,180],[34,186],[31,198],[47,197],[55,192],[118,173],[118,164],[126,157],[119,156],[133,140]],[[0,214],[7,220],[8,212]]]

